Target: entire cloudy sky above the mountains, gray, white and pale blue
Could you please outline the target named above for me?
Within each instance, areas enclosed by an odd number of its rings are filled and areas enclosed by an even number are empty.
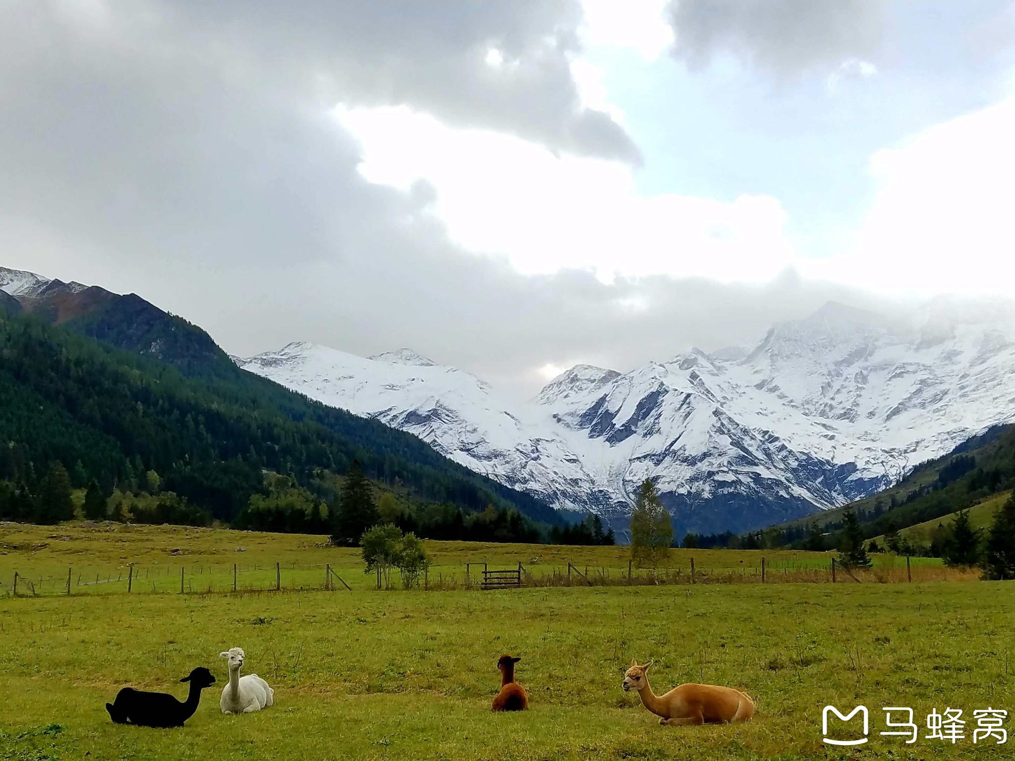
[[[1011,0],[0,0],[0,265],[512,394],[1012,294],[1013,135]]]

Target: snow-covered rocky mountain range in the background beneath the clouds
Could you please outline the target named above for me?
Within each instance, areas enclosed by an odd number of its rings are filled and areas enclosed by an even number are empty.
[[[652,477],[678,532],[842,504],[1015,421],[1008,301],[938,299],[894,321],[827,304],[753,347],[693,349],[625,373],[578,365],[528,404],[408,349],[363,359],[290,344],[238,363],[617,524]]]

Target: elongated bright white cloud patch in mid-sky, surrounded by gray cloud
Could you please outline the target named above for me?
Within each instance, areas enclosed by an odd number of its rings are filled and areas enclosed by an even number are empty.
[[[762,282],[792,260],[786,213],[768,196],[641,197],[620,162],[452,129],[404,107],[334,114],[362,146],[363,178],[403,190],[425,181],[453,239],[525,274],[579,268],[604,282],[657,274]]]

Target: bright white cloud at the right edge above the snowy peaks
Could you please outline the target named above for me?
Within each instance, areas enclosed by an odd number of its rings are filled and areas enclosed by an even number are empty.
[[[848,254],[804,274],[887,293],[1015,291],[1015,97],[871,158],[878,186]]]

